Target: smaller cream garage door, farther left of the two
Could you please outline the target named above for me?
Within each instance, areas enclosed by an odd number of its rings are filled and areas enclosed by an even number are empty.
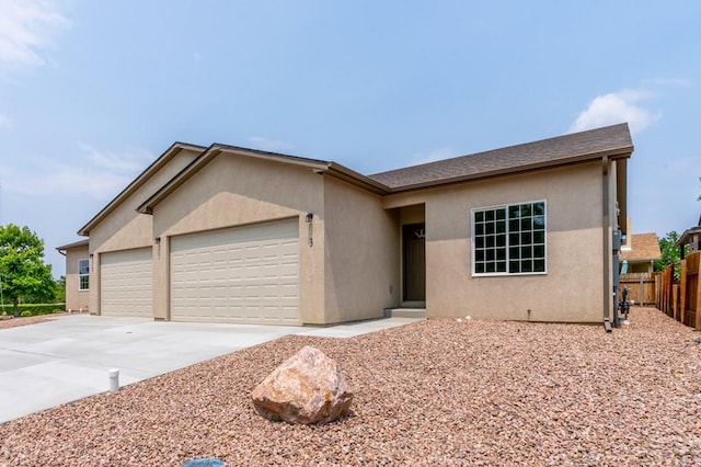
[[[100,255],[100,312],[103,316],[153,317],[151,248]]]

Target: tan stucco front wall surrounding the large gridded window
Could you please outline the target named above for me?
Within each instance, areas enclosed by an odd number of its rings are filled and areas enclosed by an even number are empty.
[[[539,200],[547,202],[547,274],[473,276],[471,209]],[[428,317],[601,322],[600,162],[392,195],[384,205],[421,202]]]

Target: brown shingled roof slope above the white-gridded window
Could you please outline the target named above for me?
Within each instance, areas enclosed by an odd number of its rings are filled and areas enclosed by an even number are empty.
[[[629,157],[633,143],[628,124],[607,126],[503,149],[390,170],[369,175],[392,191],[515,173],[604,156]]]

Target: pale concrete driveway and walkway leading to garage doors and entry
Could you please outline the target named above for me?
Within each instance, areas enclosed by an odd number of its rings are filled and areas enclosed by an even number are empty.
[[[386,318],[329,328],[160,322],[89,315],[0,330],[0,423],[287,334],[349,338],[407,324]]]

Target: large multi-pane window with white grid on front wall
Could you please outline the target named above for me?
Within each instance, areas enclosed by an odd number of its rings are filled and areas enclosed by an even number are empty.
[[[545,272],[545,202],[472,209],[475,275]]]

